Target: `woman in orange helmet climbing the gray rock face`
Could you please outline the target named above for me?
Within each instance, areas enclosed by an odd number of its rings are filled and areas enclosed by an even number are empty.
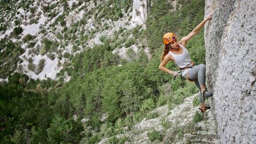
[[[205,65],[199,64],[194,66],[188,50],[186,48],[186,43],[190,40],[193,36],[196,35],[197,32],[204,26],[206,21],[212,19],[212,14],[207,16],[200,24],[193,29],[192,32],[188,34],[188,36],[183,37],[179,42],[177,41],[177,36],[172,33],[168,32],[164,34],[163,41],[165,44],[164,52],[162,54],[161,63],[159,65],[160,70],[172,74],[174,76],[183,76],[186,80],[194,81],[196,86],[199,88],[199,100],[200,100],[200,111],[205,112],[207,109],[211,107],[205,107],[204,102],[202,99],[205,97],[212,96],[211,92],[207,91],[205,86]],[[179,67],[180,71],[171,71],[164,66],[169,62],[175,62]],[[204,99],[205,100],[205,99]]]

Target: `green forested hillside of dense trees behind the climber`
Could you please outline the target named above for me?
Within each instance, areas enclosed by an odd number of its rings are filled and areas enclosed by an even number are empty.
[[[87,1],[101,8],[101,0]],[[7,3],[1,1],[1,5]],[[121,14],[128,11],[130,7],[126,7],[126,4],[132,5],[130,0],[107,0],[107,3],[110,8],[122,5],[120,10],[110,9],[113,10],[113,15],[101,13],[102,17],[112,20],[122,17]],[[29,4],[26,3],[25,6]],[[63,0],[63,4],[66,4],[66,0]],[[74,23],[72,28],[62,28],[67,33],[60,33],[60,43],[42,39],[44,50],[55,53],[60,60],[67,60],[57,73],[60,78],[56,80],[34,80],[23,72],[13,73],[19,63],[18,56],[24,49],[18,40],[14,42],[13,38],[1,39],[0,50],[3,51],[0,53],[0,74],[4,78],[9,77],[8,83],[2,82],[0,85],[0,142],[91,144],[104,138],[109,138],[107,143],[110,144],[132,142],[132,137],[116,136],[132,131],[134,125],[144,118],[156,117],[150,113],[154,108],[167,104],[169,110],[172,110],[183,103],[184,98],[196,94],[198,89],[195,84],[174,79],[174,76],[160,71],[158,66],[164,48],[164,33],[175,32],[180,40],[191,32],[204,19],[204,0],[176,0],[175,3],[151,0],[149,4],[151,5],[145,28],[119,28],[113,35],[99,36],[100,44],[91,48],[81,49],[89,45],[88,39],[94,37],[95,31],[84,29],[85,37],[83,35],[77,38],[72,35],[76,33],[76,26],[82,22]],[[57,12],[51,11],[53,8],[42,8],[49,11],[49,15],[57,15]],[[10,12],[12,7],[6,9]],[[87,13],[87,16],[92,17],[94,12],[88,10]],[[66,23],[61,16],[55,22],[60,25]],[[5,31],[6,27],[1,23],[0,31]],[[56,27],[56,31],[59,31],[58,28]],[[19,36],[19,31],[19,28],[14,28],[12,36]],[[104,31],[104,28],[97,31]],[[37,37],[40,38],[42,37]],[[33,36],[23,38],[23,42],[29,40],[33,40]],[[74,43],[71,53],[60,52],[62,55],[52,49],[55,44],[65,48],[70,43]],[[133,44],[137,44],[137,52],[129,48]],[[31,45],[32,50],[35,49],[35,44]],[[126,58],[113,53],[116,48],[121,47],[128,48]],[[145,48],[149,49],[150,58],[144,52]],[[187,48],[196,64],[205,64],[204,30],[187,43]],[[37,49],[36,52],[44,51]],[[35,72],[40,70],[34,67],[30,64]],[[174,63],[169,63],[166,67],[173,71],[178,70]],[[61,77],[65,75],[71,77],[66,83],[64,77]],[[169,85],[168,88],[166,84]],[[195,105],[199,103],[197,99],[193,101]],[[201,115],[197,113],[195,116],[197,119]],[[198,121],[195,120],[196,122]],[[164,124],[166,123],[168,122]],[[168,125],[166,127],[168,129]],[[166,136],[173,137],[165,139],[165,142],[172,143],[177,142],[183,135],[176,132],[169,136],[166,131],[156,131],[148,137],[151,141],[158,140],[157,142]]]

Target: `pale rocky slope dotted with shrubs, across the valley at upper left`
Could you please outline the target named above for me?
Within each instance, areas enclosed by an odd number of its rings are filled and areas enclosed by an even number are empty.
[[[21,72],[40,80],[56,79],[64,65],[70,63],[70,55],[103,44],[106,38],[115,39],[111,43],[115,48],[113,53],[121,57],[127,58],[128,49],[137,52],[140,42],[125,43],[134,38],[133,28],[145,28],[148,15],[147,0],[123,0],[120,3],[106,0],[17,0],[15,5],[2,4],[0,39],[12,40],[25,51],[13,64],[16,70],[8,74]],[[8,11],[9,8],[12,11]],[[13,36],[17,27],[22,28],[22,32]],[[0,50],[4,52],[5,49]],[[37,68],[32,67],[38,67],[40,60],[45,61],[44,66],[36,72]],[[5,64],[1,66],[4,68]],[[7,80],[6,73],[0,78],[1,81]],[[65,80],[69,80],[68,75],[65,75]]]

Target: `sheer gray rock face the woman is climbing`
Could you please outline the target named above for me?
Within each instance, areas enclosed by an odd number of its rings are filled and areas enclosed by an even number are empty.
[[[207,0],[208,90],[220,142],[256,143],[256,1]]]

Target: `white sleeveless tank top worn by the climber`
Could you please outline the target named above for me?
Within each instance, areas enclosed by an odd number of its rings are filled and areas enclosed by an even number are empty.
[[[180,68],[185,68],[188,64],[191,63],[192,60],[190,58],[190,55],[189,55],[189,52],[188,52],[187,48],[185,48],[181,44],[179,44],[179,46],[181,48],[183,48],[183,53],[182,54],[176,55],[175,53],[173,53],[171,51],[169,51],[168,53],[174,57],[175,64],[177,64]],[[181,72],[182,76],[184,76],[188,72],[189,69],[190,68],[182,70],[182,72]]]

